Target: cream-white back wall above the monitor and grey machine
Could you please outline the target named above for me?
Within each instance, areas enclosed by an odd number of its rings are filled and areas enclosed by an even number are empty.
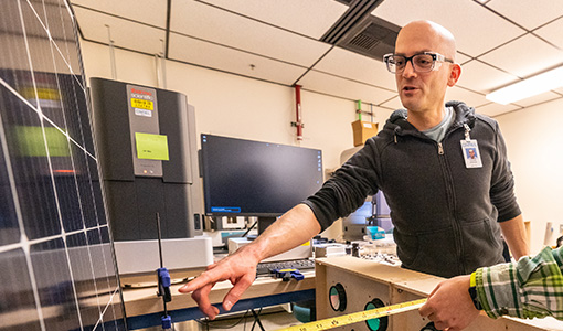
[[[86,77],[111,77],[107,46],[81,42]],[[116,79],[158,86],[153,56],[115,50]],[[213,134],[322,150],[325,169],[340,166],[340,153],[353,147],[354,103],[301,90],[304,140],[296,139],[295,90],[278,84],[245,78],[188,64],[167,62],[167,89],[183,93],[195,107],[196,135]],[[375,109],[380,128],[389,111]],[[199,141],[198,141],[199,143]],[[328,235],[338,236],[334,224]]]

